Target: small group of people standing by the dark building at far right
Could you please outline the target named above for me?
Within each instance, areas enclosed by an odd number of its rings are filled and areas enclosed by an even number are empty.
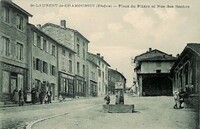
[[[174,92],[174,101],[175,101],[175,105],[174,105],[174,109],[181,109],[183,108],[182,104],[185,105],[185,99],[188,96],[188,92],[184,91],[183,88],[180,88],[179,91],[175,91]]]

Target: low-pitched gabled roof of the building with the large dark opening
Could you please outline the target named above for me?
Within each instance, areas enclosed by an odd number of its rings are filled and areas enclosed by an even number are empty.
[[[165,52],[160,50],[154,49],[151,51],[147,51],[146,53],[142,53],[135,57],[135,61],[175,61],[177,60],[176,57],[169,55]]]

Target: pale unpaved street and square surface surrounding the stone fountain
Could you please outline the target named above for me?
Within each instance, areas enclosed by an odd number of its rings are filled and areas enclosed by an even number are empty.
[[[114,102],[115,97],[111,96],[111,103]],[[41,119],[32,129],[198,129],[197,112],[173,109],[173,97],[125,95],[125,104],[135,105],[134,113],[105,113],[102,104],[103,97],[98,97],[1,108],[0,127],[23,128],[27,123]],[[55,117],[42,120],[51,116]]]

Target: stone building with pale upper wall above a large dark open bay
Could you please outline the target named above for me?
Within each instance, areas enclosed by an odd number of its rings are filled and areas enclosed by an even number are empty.
[[[170,69],[176,57],[157,49],[138,55],[134,59],[140,96],[172,95]]]

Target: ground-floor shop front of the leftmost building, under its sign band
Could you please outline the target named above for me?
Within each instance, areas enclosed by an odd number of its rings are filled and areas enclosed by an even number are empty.
[[[15,89],[27,89],[27,69],[3,62],[1,66],[1,101],[12,101]]]

